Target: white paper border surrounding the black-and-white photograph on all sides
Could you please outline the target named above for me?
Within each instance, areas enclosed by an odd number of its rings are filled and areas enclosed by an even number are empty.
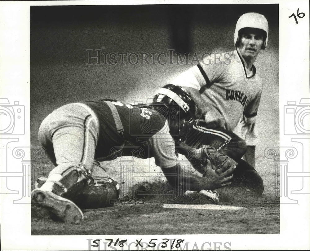
[[[0,81],[1,98],[18,100],[25,109],[24,135],[12,137],[22,146],[30,146],[30,6],[32,5],[114,5],[114,4],[180,4],[183,1],[17,1],[0,2]],[[213,1],[191,1],[207,4]],[[279,4],[279,68],[280,68],[280,147],[292,146],[298,136],[285,135],[284,109],[288,101],[309,99],[309,2],[308,1],[217,1],[221,4]],[[297,8],[305,13],[298,25],[293,18]],[[283,111],[283,112],[282,112]],[[305,139],[309,138],[306,135]],[[294,140],[293,140],[294,141]],[[1,136],[1,148],[8,138]],[[306,146],[305,146],[306,147]],[[309,148],[304,149],[307,153]],[[30,152],[26,151],[26,155]],[[308,155],[308,154],[306,154]],[[26,157],[27,158],[27,157]],[[1,165],[7,165],[4,160]],[[309,157],[303,157],[304,173],[309,173]],[[3,170],[3,169],[1,169]],[[2,171],[1,171],[2,172]],[[303,175],[303,174],[301,174]],[[297,174],[295,175],[297,176]],[[304,182],[309,182],[305,175]],[[30,177],[30,174],[29,174]],[[3,177],[1,177],[3,178]],[[3,183],[2,183],[3,184]],[[309,186],[308,186],[309,187]],[[2,187],[1,190],[5,189]],[[197,245],[209,242],[231,243],[231,249],[309,249],[308,194],[297,194],[298,204],[281,204],[280,234],[236,235],[170,235],[169,238],[186,239]],[[30,198],[29,198],[30,201]],[[280,202],[284,202],[281,198]],[[28,202],[29,203],[29,202]],[[284,202],[285,203],[285,202]],[[207,220],[207,219],[206,219]],[[109,236],[105,236],[108,238]],[[154,236],[125,237],[127,242]],[[162,236],[158,236],[159,238]],[[166,237],[166,236],[165,236]],[[164,238],[165,238],[164,237]],[[11,196],[1,196],[1,247],[2,250],[86,250],[86,239],[102,236],[31,236],[30,204],[12,204]],[[139,240],[138,239],[138,240]]]

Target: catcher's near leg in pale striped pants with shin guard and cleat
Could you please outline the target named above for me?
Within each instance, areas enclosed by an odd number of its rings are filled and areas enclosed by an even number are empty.
[[[46,183],[32,192],[32,203],[46,207],[53,219],[79,222],[83,218],[72,198],[90,179],[98,134],[96,116],[78,104],[63,106],[42,122],[39,141],[57,166]]]

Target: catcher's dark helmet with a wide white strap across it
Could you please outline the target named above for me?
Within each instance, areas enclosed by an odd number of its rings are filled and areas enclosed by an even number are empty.
[[[190,97],[190,95],[181,86],[175,86],[172,84],[159,88],[153,98],[155,109],[166,108],[164,110],[164,116],[169,120],[189,120],[196,118],[196,103]],[[181,109],[176,109],[175,106],[179,106]]]

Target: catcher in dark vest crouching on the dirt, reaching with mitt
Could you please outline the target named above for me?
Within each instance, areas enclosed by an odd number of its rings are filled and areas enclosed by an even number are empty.
[[[124,156],[136,156],[135,149],[139,149],[141,158],[154,157],[155,164],[174,187],[204,191],[206,195],[206,190],[230,184],[237,164],[227,156],[224,159],[228,161],[220,163],[217,170],[205,168],[204,177],[189,178],[188,172],[178,165],[178,157],[171,154],[175,152],[175,139],[179,138],[183,123],[195,116],[195,107],[182,87],[167,85],[157,90],[148,107],[99,100],[56,109],[43,120],[38,133],[55,168],[46,183],[32,191],[32,203],[47,208],[55,220],[79,222],[83,213],[73,201],[94,183],[91,172],[94,166],[98,167],[97,160],[116,158],[117,151]],[[192,163],[200,162],[202,154],[210,159],[215,154],[216,160],[221,157],[206,147],[193,151]],[[96,185],[102,189],[104,200],[118,197],[117,182],[112,178],[107,177],[100,187]]]

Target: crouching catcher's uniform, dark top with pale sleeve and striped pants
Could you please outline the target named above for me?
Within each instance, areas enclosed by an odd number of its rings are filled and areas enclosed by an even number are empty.
[[[58,167],[65,163],[82,162],[91,170],[94,159],[103,161],[113,151],[122,149],[125,141],[139,147],[139,157],[154,157],[155,164],[162,168],[176,165],[177,157],[169,154],[175,143],[161,114],[151,108],[112,103],[122,121],[124,136],[117,132],[112,112],[101,100],[67,104],[44,119],[38,135],[49,158],[57,165],[51,174],[62,174],[65,170]],[[135,154],[131,150],[125,148],[123,156]]]

